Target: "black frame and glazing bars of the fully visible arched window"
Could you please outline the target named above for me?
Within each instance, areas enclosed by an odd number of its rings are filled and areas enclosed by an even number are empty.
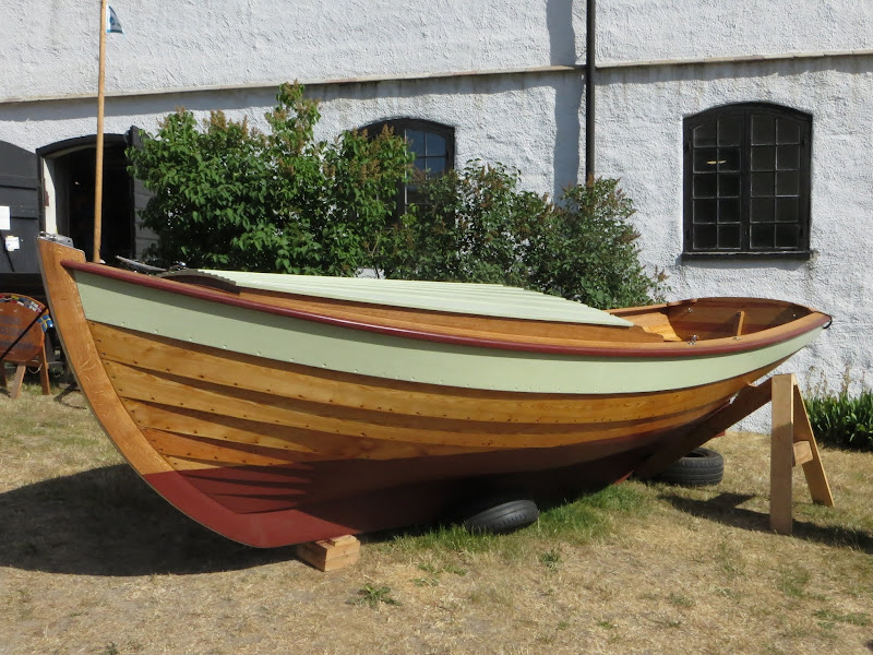
[[[753,198],[773,198],[778,201],[779,198],[793,198],[794,194],[779,195],[774,181],[773,195],[753,196],[753,168],[752,168],[752,153],[753,153],[753,135],[752,123],[753,117],[764,117],[774,119],[774,121],[784,120],[791,121],[798,127],[799,136],[797,143],[789,143],[787,145],[797,146],[797,167],[786,169],[787,172],[797,171],[797,221],[796,222],[778,222],[776,221],[777,210],[774,210],[774,217],[769,222],[754,222],[752,219],[752,201]],[[739,175],[739,196],[720,196],[719,191],[715,192],[715,196],[696,198],[694,195],[695,174],[701,175],[706,171],[695,170],[695,148],[703,151],[706,147],[714,147],[711,145],[699,145],[695,143],[695,130],[698,128],[718,124],[719,120],[741,119],[741,132],[739,138],[739,170],[729,170],[730,174]],[[791,124],[789,123],[789,124]],[[774,122],[774,126],[780,123]],[[699,114],[689,116],[683,120],[683,230],[682,230],[682,259],[718,259],[725,257],[733,258],[777,258],[777,259],[809,259],[810,251],[810,228],[811,228],[811,182],[812,182],[812,115],[775,105],[769,103],[738,103],[731,105],[722,105],[713,107]],[[717,143],[715,147],[719,147]],[[773,148],[779,147],[778,135],[774,136],[773,143],[766,143],[765,146]],[[757,145],[756,145],[757,146]],[[731,146],[728,146],[731,147]],[[733,146],[737,147],[737,146]],[[718,156],[718,165],[722,164],[723,159]],[[709,162],[707,162],[709,164]],[[775,177],[779,171],[777,165],[774,163],[773,170],[765,170],[765,172],[774,174]],[[716,171],[716,179],[720,171]],[[729,176],[723,176],[726,179]],[[697,178],[703,179],[703,178]],[[717,183],[718,188],[718,183]],[[716,203],[721,200],[737,199],[739,201],[738,221],[737,222],[719,222],[718,216],[715,219],[716,225],[739,225],[739,248],[719,247],[716,242],[715,247],[695,247],[695,226],[713,224],[711,222],[694,222],[694,201],[714,199]],[[720,209],[717,210],[720,212]],[[755,224],[772,223],[774,226],[779,224],[797,224],[798,236],[797,243],[788,247],[765,247],[754,248],[752,246],[751,231]],[[775,227],[774,227],[775,230]],[[718,231],[718,228],[716,228]],[[776,233],[774,233],[775,235]],[[718,237],[717,237],[718,238]],[[774,236],[774,240],[776,237]]]

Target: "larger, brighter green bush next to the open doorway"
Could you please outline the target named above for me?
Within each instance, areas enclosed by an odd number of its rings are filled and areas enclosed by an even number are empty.
[[[266,115],[270,133],[214,111],[199,130],[190,111],[167,117],[130,148],[130,171],[154,192],[143,225],[158,235],[156,263],[354,275],[372,266],[408,177],[403,139],[345,132],[315,141],[318,104],[285,84]]]

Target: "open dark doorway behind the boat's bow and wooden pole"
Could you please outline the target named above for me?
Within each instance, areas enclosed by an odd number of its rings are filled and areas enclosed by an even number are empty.
[[[124,155],[127,139],[107,134],[104,140],[103,221],[100,257],[113,263],[116,255],[133,258],[133,184]],[[64,235],[85,252],[94,251],[94,188],[96,139],[85,136],[37,151],[43,157],[46,231]]]

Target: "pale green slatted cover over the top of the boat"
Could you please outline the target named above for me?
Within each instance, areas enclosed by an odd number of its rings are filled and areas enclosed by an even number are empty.
[[[191,272],[186,272],[191,273]],[[196,271],[240,288],[298,294],[429,311],[502,317],[530,321],[559,321],[630,327],[630,321],[610,313],[537,291],[499,284],[277,275],[238,271]],[[172,275],[168,276],[172,279]]]

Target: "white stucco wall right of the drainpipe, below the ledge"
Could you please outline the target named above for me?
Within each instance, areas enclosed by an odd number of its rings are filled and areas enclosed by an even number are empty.
[[[670,275],[670,298],[764,296],[826,311],[834,325],[784,370],[832,390],[847,370],[873,382],[873,56],[610,70],[599,83],[598,172],[622,178],[643,260]],[[810,261],[681,259],[682,120],[743,102],[813,115]],[[760,413],[744,425],[766,420]]]

